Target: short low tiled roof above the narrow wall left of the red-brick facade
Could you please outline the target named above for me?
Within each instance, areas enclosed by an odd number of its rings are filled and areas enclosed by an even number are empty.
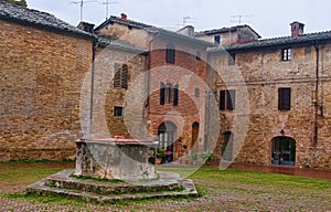
[[[140,54],[148,53],[148,50],[138,47],[136,45],[132,45],[132,44],[130,44],[126,41],[121,41],[121,40],[108,40],[105,38],[99,38],[98,43],[102,46],[111,47],[111,49],[116,49],[116,50],[122,50],[122,51],[140,53]]]

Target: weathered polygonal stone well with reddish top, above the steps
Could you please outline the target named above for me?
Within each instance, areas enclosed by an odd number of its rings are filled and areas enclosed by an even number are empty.
[[[154,157],[158,141],[109,138],[77,140],[74,174],[120,180],[157,179]]]

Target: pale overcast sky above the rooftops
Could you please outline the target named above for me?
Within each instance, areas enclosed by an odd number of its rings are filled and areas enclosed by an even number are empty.
[[[73,25],[81,21],[81,0],[26,0],[31,9],[49,12]],[[107,0],[84,0],[83,20],[99,25],[106,20]],[[78,2],[78,3],[77,3]],[[330,0],[108,0],[108,14],[161,28],[180,28],[183,19],[196,31],[248,24],[263,38],[290,34],[300,21],[305,32],[331,30]],[[113,3],[114,2],[114,3]],[[234,18],[233,18],[234,17]]]

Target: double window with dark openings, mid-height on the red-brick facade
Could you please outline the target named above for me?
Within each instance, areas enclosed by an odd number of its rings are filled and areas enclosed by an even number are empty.
[[[178,106],[179,103],[179,85],[172,86],[172,84],[161,83],[160,88],[160,105],[173,104],[173,106]]]

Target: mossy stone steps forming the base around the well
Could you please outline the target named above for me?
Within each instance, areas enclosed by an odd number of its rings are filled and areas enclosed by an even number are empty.
[[[65,170],[53,174],[29,186],[26,192],[100,203],[114,203],[120,200],[197,197],[192,180],[169,178],[169,173],[161,173],[159,180],[120,183],[75,179],[70,177],[72,173],[73,170]]]

